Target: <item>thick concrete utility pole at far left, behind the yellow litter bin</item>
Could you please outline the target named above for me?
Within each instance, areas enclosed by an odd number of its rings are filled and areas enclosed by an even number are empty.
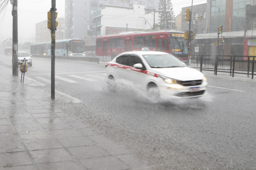
[[[12,1],[11,1],[12,2]],[[18,0],[12,4],[12,76],[18,76]]]

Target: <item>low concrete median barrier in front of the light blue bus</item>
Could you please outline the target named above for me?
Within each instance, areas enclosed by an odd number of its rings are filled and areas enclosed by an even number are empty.
[[[51,55],[33,55],[33,57],[51,58]],[[97,57],[55,56],[55,59],[95,62],[95,63],[98,63],[98,64],[100,63],[100,58],[97,58]]]

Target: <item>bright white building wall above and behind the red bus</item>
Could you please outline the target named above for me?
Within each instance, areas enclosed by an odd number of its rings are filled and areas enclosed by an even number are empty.
[[[145,5],[133,4],[133,9],[106,7],[101,10],[101,36],[106,34],[106,27],[126,27],[140,30],[150,29],[154,25],[154,12],[145,14]],[[143,17],[143,18],[139,18]],[[145,20],[145,19],[149,22]],[[145,24],[146,22],[146,24]],[[158,13],[155,12],[155,23],[158,22]]]

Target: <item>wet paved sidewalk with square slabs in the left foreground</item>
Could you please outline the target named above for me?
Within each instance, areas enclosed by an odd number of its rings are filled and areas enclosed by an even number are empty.
[[[0,170],[165,169],[69,117],[20,72],[0,65],[0,77]]]

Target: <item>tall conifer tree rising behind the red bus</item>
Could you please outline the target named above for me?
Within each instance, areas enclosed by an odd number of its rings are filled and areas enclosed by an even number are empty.
[[[159,24],[161,29],[177,29],[176,23],[172,23],[172,19],[175,17],[173,14],[172,2],[171,0],[159,0]]]

